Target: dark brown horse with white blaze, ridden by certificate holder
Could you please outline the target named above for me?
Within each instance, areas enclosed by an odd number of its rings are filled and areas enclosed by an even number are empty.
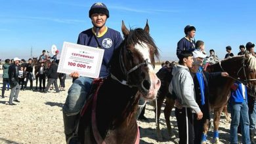
[[[144,29],[131,30],[122,23],[121,29],[124,40],[110,61],[111,75],[100,84],[93,103],[80,119],[81,143],[138,142],[135,113],[139,97],[155,99],[160,88],[154,73],[158,48],[149,35],[148,23]]]

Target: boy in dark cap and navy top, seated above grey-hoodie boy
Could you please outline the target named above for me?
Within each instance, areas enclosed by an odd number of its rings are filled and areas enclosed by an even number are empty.
[[[194,36],[196,35],[196,27],[194,26],[186,26],[184,28],[185,37],[183,37],[177,44],[177,56],[179,58],[179,55],[181,54],[182,50],[189,50],[194,51],[196,42],[194,39]]]

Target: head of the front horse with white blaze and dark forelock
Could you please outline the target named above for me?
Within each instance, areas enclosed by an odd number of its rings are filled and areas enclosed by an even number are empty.
[[[123,79],[130,87],[137,87],[144,99],[155,99],[161,85],[154,72],[155,56],[158,58],[159,53],[149,35],[148,22],[144,29],[129,30],[122,21],[121,30],[124,40],[117,56],[121,73],[111,71],[112,75],[117,76],[117,79]]]

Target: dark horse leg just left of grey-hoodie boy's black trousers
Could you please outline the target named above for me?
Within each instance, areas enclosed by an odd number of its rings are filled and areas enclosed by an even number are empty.
[[[172,98],[166,98],[165,100],[165,109],[163,110],[163,113],[165,115],[165,122],[166,122],[166,126],[167,126],[167,130],[169,133],[169,137],[171,137],[171,139],[175,138],[175,134],[173,133],[173,130],[171,128],[171,121],[170,121],[170,117],[171,117],[171,110],[174,107],[174,100]]]

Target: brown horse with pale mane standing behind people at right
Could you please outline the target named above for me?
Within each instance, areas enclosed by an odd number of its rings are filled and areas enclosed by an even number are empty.
[[[213,139],[215,143],[219,143],[219,121],[221,117],[221,112],[223,111],[223,107],[228,102],[230,96],[230,87],[234,84],[235,81],[240,81],[247,86],[248,94],[251,96],[255,96],[256,92],[256,58],[249,54],[245,54],[244,56],[236,56],[232,58],[225,59],[219,63],[215,63],[213,65],[209,65],[207,67],[207,72],[218,72],[218,71],[226,71],[230,75],[230,77],[219,77],[214,79],[213,81],[209,81],[209,105],[211,109],[214,110],[214,118],[213,118],[213,126],[214,126],[214,135]],[[161,90],[161,88],[160,88]],[[160,93],[160,91],[159,91]],[[166,94],[165,94],[166,96]],[[164,99],[165,96],[159,95],[158,98]],[[163,101],[159,100],[158,101]],[[161,104],[158,103],[158,111],[161,109]],[[171,125],[169,123],[169,116],[171,115],[171,109],[174,107],[174,100],[171,98],[166,98],[165,101],[165,120],[167,122],[167,128],[169,135],[173,135],[171,132]],[[160,114],[159,114],[160,115]],[[159,118],[159,116],[158,116]],[[169,125],[169,126],[168,126]],[[206,122],[204,125],[204,134],[209,130],[209,124]],[[158,139],[161,140],[161,132],[160,128],[157,128],[157,136]],[[206,143],[206,141],[203,141]]]

